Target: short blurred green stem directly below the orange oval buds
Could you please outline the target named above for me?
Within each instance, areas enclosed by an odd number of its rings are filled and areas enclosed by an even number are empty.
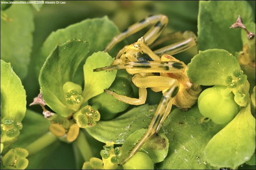
[[[74,142],[75,145],[79,148],[79,151],[81,152],[84,160],[89,161],[93,157],[93,154],[82,130],[79,131],[79,135]]]

